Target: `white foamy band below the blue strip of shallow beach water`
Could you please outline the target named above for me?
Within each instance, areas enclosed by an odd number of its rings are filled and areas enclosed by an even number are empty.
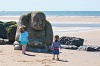
[[[64,32],[67,32],[67,33],[73,33],[73,32],[86,32],[86,31],[94,31],[94,30],[100,30],[100,27],[76,27],[76,28],[68,28],[68,29],[65,29],[65,28],[62,28],[62,29],[59,29],[60,27],[53,27],[53,31],[54,33],[55,32],[60,32],[60,33],[64,33]]]

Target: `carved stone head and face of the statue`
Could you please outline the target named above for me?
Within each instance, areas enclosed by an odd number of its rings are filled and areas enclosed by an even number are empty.
[[[45,27],[46,16],[43,12],[31,14],[31,27],[35,30],[42,30]]]

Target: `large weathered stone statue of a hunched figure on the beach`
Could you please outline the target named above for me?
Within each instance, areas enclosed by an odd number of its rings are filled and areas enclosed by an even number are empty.
[[[43,12],[30,12],[20,17],[16,31],[16,40],[19,38],[19,28],[21,25],[26,26],[28,31],[29,43],[31,48],[46,48],[52,44],[53,31],[50,22],[46,20]],[[23,38],[24,39],[24,38]]]

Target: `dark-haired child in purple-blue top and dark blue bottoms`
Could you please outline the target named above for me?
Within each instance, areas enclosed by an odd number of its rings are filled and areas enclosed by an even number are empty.
[[[52,43],[51,49],[53,50],[53,60],[55,60],[55,55],[57,55],[57,60],[59,60],[59,48],[61,48],[59,36],[55,35],[55,41]]]

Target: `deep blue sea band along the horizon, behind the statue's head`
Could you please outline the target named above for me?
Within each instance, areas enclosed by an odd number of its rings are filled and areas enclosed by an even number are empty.
[[[20,16],[34,11],[0,11],[0,16]],[[100,11],[42,11],[46,16],[100,16]]]

